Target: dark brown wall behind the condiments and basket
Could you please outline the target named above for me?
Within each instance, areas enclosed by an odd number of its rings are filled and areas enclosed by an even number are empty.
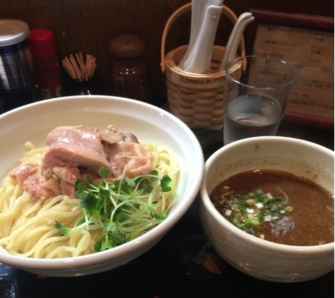
[[[145,61],[150,74],[151,101],[164,97],[165,78],[160,70],[162,32],[169,16],[188,0],[0,0],[0,18],[24,20],[30,29],[53,32],[59,59],[70,53],[89,53],[97,58],[96,75],[103,93],[112,95],[110,41],[119,34],[136,34],[145,41]],[[334,16],[333,0],[226,0],[237,15],[248,8]],[[171,28],[166,51],[188,44],[190,15]],[[221,21],[218,43],[227,41],[231,25]]]

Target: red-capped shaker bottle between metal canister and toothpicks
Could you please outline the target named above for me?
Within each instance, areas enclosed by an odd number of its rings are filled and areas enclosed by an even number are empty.
[[[60,65],[53,33],[48,29],[30,30],[29,44],[41,99],[62,96]]]

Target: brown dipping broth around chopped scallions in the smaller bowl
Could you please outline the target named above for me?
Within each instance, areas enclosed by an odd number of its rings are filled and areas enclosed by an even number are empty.
[[[285,207],[289,211],[282,211],[274,224],[261,220],[253,226],[257,237],[285,245],[334,242],[334,197],[301,176],[263,169],[245,171],[219,183],[210,197],[216,209],[228,219],[225,212],[232,196],[255,190],[263,190],[274,197],[281,195],[289,206]]]

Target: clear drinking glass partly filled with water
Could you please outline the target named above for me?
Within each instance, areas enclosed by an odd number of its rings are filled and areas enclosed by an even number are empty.
[[[241,63],[240,77],[230,74]],[[296,80],[294,67],[283,60],[246,56],[228,63],[225,74],[224,145],[252,136],[274,136]]]

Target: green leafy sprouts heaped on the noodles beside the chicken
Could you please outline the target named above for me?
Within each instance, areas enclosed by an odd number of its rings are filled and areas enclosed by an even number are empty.
[[[157,195],[176,190],[176,184],[168,175],[160,178],[153,170],[133,179],[110,182],[107,181],[109,169],[101,167],[98,174],[102,178],[100,183],[92,181],[90,174],[86,175],[85,181],[76,181],[74,190],[80,199],[83,216],[72,228],[55,221],[60,234],[99,226],[101,238],[94,248],[103,251],[143,235],[166,219],[166,211],[157,202]]]

